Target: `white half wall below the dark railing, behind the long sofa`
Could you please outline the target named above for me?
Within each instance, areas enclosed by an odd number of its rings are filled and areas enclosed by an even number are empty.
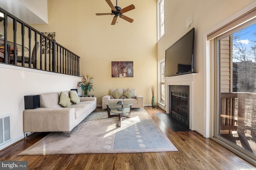
[[[12,140],[0,150],[24,137],[24,95],[77,88],[80,77],[22,68],[0,63],[0,117],[11,115]]]

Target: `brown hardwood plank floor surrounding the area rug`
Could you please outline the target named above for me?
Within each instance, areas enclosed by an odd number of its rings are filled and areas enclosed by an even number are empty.
[[[101,109],[101,108],[97,108]],[[236,154],[230,152],[210,138],[193,131],[173,132],[154,113],[162,109],[144,108],[178,152],[150,152],[123,154],[73,154],[18,156],[20,152],[46,136],[35,133],[0,152],[0,160],[28,161],[28,169],[39,170],[239,170],[256,169]]]

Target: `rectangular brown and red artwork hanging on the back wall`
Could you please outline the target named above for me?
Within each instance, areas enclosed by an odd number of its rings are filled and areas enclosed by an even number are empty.
[[[112,61],[112,77],[133,77],[133,61]]]

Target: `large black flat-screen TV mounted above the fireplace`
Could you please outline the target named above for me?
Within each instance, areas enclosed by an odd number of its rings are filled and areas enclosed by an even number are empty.
[[[194,34],[192,28],[165,51],[165,77],[193,73]]]

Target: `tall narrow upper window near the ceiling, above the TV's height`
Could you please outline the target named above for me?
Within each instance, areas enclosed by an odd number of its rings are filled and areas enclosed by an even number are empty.
[[[164,36],[164,0],[158,0],[158,40]]]

